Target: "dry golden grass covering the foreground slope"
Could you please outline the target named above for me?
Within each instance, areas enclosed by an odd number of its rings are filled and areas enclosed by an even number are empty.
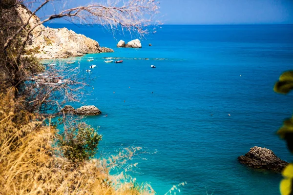
[[[54,147],[56,129],[40,117],[21,111],[13,90],[0,94],[0,195],[145,195],[148,185],[137,185],[125,174],[109,169],[131,158],[132,152],[72,163]]]

